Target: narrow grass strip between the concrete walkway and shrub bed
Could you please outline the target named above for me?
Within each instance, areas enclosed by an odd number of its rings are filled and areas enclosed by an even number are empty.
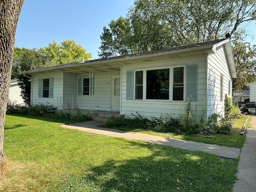
[[[233,129],[231,130],[230,134],[227,134],[227,135],[214,134],[212,135],[212,137],[205,137],[199,134],[185,135],[185,134],[161,133],[161,132],[156,132],[148,129],[134,129],[132,127],[129,127],[129,128],[117,127],[115,129],[242,149],[242,147],[244,146],[244,141],[246,137],[245,135],[240,135],[240,132],[247,118],[250,119],[250,116],[243,115],[241,119],[235,119],[233,124]]]

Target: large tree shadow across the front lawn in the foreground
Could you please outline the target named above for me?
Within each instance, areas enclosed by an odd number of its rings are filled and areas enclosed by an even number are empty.
[[[234,162],[221,161],[217,156],[154,145],[153,154],[113,158],[82,171],[80,177],[67,175],[61,191],[228,192],[236,180],[235,172]]]

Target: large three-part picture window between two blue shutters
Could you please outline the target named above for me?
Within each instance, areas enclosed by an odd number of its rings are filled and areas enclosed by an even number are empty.
[[[136,100],[184,100],[184,67],[135,71],[134,80]]]

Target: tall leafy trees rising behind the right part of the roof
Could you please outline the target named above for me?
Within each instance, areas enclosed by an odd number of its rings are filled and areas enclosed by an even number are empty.
[[[120,18],[118,19],[120,20]],[[118,20],[116,23],[118,24]],[[130,31],[120,38],[104,27],[99,56],[111,57],[216,40],[230,33],[234,40],[246,35],[241,24],[255,22],[255,0],[136,0],[127,18]],[[118,29],[118,26],[115,26]],[[128,28],[128,27],[127,27]],[[118,30],[117,30],[118,32]],[[124,41],[123,41],[124,39]],[[128,43],[126,39],[130,40]],[[126,51],[120,51],[119,43]],[[115,54],[112,54],[115,53]]]

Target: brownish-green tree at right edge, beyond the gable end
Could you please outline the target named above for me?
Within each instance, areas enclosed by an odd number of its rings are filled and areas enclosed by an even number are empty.
[[[245,84],[256,81],[256,46],[249,43],[233,42],[236,76],[233,79],[233,90],[244,89]]]

